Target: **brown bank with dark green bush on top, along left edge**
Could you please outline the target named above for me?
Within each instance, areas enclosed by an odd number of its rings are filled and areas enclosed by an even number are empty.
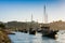
[[[3,24],[0,24],[0,43],[11,43]]]

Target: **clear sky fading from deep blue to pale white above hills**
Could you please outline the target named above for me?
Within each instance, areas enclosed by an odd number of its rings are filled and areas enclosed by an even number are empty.
[[[47,6],[48,22],[65,20],[64,0],[0,0],[0,22],[30,22],[43,23],[43,6]]]

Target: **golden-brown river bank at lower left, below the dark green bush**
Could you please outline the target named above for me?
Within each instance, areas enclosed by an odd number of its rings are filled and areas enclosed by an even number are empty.
[[[0,43],[11,43],[11,40],[8,37],[6,32],[2,30],[0,30]]]

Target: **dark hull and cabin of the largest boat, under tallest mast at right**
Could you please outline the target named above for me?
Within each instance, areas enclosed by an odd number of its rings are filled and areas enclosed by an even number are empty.
[[[50,27],[41,27],[42,28],[42,37],[48,37],[55,39],[55,34],[57,34],[58,30],[50,30]]]

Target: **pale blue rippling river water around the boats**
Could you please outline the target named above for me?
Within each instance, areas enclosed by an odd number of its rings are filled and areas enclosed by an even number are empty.
[[[60,32],[56,40],[41,37],[40,33],[32,35],[24,32],[14,32],[15,34],[9,34],[9,38],[12,43],[65,43],[65,31],[62,33]]]

